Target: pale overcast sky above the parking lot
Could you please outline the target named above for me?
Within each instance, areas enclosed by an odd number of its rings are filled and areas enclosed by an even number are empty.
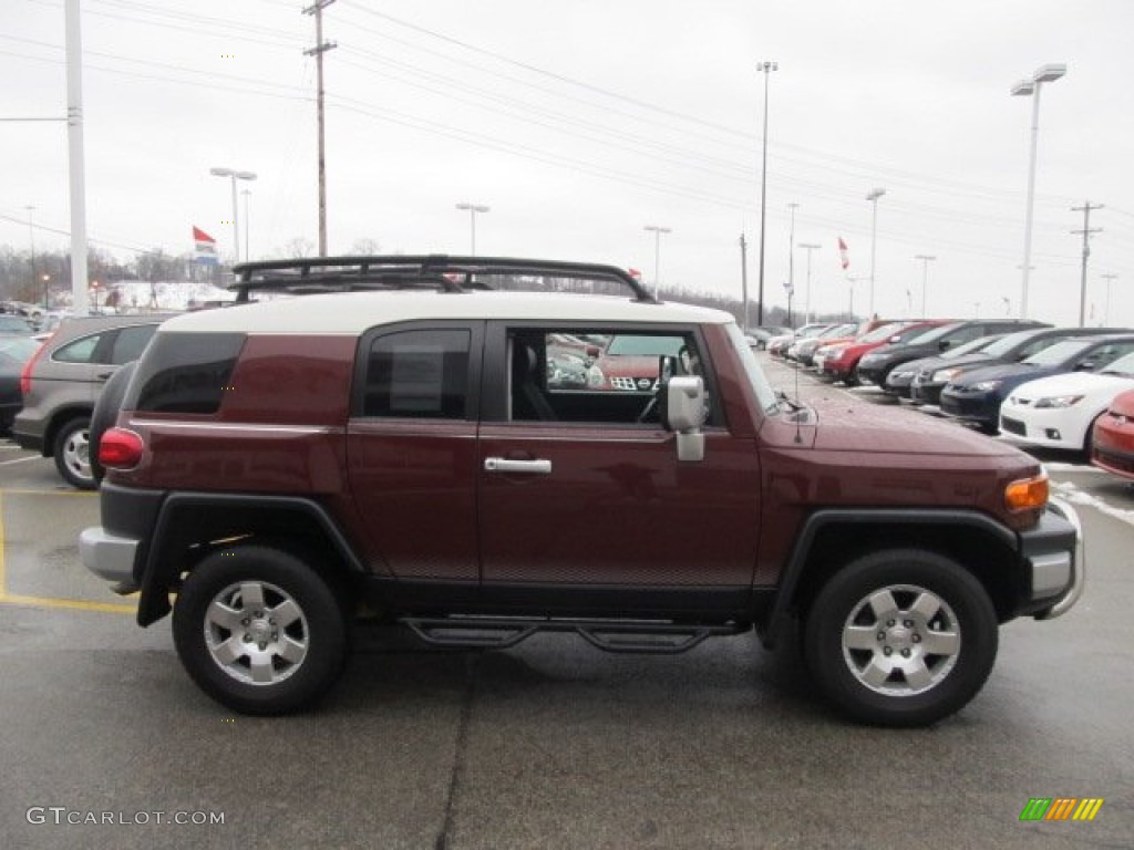
[[[87,229],[120,258],[232,253],[253,171],[251,254],[318,238],[314,22],[290,0],[83,0]],[[0,0],[0,118],[66,113],[62,0]],[[769,305],[1018,312],[1032,99],[1042,90],[1031,317],[1074,324],[1083,213],[1088,323],[1134,324],[1131,0],[337,0],[324,12],[330,253],[610,262],[753,299],[764,76]],[[62,248],[64,122],[0,122],[0,244]],[[242,198],[242,216],[244,215]],[[62,231],[56,232],[56,231]],[[843,271],[837,240],[849,246]],[[931,255],[923,263],[915,256]],[[1115,274],[1107,316],[1106,274]],[[858,279],[848,283],[848,275]],[[1007,299],[1007,300],[1006,300]],[[753,316],[755,312],[753,311]]]

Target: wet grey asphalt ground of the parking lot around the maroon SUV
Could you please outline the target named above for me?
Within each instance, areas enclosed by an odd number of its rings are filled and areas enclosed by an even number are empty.
[[[1134,491],[1044,462],[1084,521],[1084,596],[1004,627],[984,690],[931,729],[848,725],[797,647],[752,635],[621,656],[558,635],[437,651],[391,629],[358,634],[316,711],[271,720],[196,689],[168,620],[139,629],[79,564],[96,496],[0,442],[0,843],[1134,847]],[[1021,821],[1034,798],[1103,802],[1090,822]]]

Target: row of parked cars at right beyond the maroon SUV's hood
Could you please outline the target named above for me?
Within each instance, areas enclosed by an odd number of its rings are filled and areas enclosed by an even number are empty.
[[[809,330],[769,351],[987,434],[1082,452],[1134,481],[1134,330],[923,320],[822,345],[824,333],[844,331]]]

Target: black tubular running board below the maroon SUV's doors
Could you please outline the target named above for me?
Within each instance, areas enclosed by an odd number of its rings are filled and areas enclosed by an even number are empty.
[[[576,620],[519,617],[404,617],[400,622],[432,646],[506,649],[538,631],[574,631],[611,653],[677,654],[706,637],[739,635],[752,623],[674,623],[658,620]]]

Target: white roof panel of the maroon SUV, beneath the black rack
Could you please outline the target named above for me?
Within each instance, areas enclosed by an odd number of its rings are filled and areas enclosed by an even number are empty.
[[[171,318],[170,332],[359,334],[379,324],[417,320],[548,322],[676,322],[725,324],[731,315],[687,304],[643,304],[627,297],[559,292],[420,290],[304,295]]]

